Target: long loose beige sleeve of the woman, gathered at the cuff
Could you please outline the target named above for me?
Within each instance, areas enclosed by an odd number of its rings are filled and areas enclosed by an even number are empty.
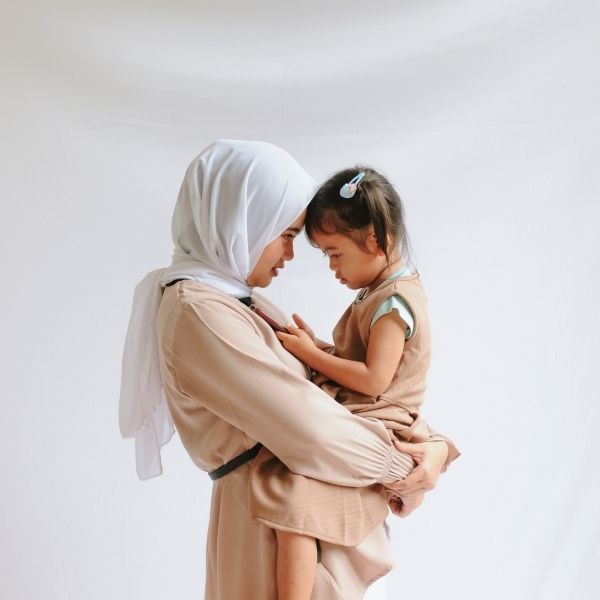
[[[350,487],[406,475],[412,461],[390,447],[384,425],[352,415],[284,364],[249,311],[178,300],[164,365],[187,402],[262,442],[296,473]]]

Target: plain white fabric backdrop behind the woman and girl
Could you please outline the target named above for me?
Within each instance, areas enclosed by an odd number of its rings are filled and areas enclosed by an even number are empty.
[[[262,139],[406,203],[427,419],[463,457],[392,522],[369,598],[600,597],[594,0],[2,0],[0,597],[202,597],[210,484],[141,483],[117,402],[131,293],[168,263],[188,162]],[[320,254],[268,294],[326,337]]]

